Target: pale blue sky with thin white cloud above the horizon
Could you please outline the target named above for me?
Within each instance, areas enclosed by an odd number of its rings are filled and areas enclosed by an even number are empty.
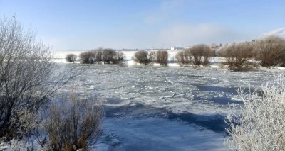
[[[233,43],[285,27],[284,0],[0,0],[53,50]]]

